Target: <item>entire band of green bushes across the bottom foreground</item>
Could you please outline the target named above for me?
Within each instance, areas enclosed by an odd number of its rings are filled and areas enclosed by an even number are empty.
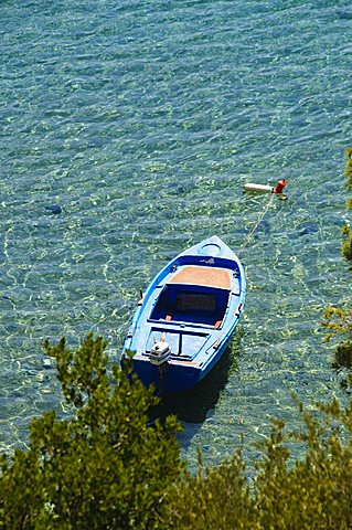
[[[49,412],[30,425],[30,448],[2,457],[1,529],[348,529],[352,528],[352,404],[298,404],[305,428],[273,422],[255,480],[236,451],[196,476],[180,459],[175,418],[149,423],[157,403],[130,373],[107,373],[105,343],[77,351],[45,344],[72,418]],[[305,444],[301,460],[289,445]]]

